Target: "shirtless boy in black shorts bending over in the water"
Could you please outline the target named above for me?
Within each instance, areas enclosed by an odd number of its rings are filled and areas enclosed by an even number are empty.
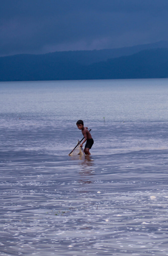
[[[86,145],[85,145],[85,148],[84,148],[84,153],[86,155],[91,155],[91,153],[89,152],[89,149],[91,149],[91,147],[93,146],[93,143],[94,143],[92,135],[87,130],[87,127],[84,127],[84,124],[83,124],[82,120],[78,120],[76,122],[76,125],[77,125],[77,128],[82,131],[82,134],[84,136],[84,141],[81,143],[80,146],[83,147],[83,143],[85,143],[85,141],[86,141]]]

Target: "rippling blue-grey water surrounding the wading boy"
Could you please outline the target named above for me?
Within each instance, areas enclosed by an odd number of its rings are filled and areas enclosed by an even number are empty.
[[[168,255],[167,84],[0,83],[1,255]]]

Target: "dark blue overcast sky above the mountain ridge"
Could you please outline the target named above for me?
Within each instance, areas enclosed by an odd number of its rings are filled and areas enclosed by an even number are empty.
[[[168,0],[0,0],[0,56],[168,40]]]

